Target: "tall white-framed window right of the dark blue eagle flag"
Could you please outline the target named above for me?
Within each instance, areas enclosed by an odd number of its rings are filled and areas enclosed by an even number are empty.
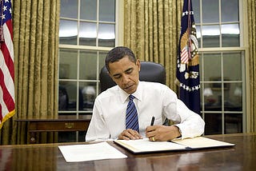
[[[242,1],[194,0],[205,134],[246,129],[246,48]]]

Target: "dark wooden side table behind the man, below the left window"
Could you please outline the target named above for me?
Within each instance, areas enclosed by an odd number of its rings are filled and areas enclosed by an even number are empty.
[[[17,119],[16,121],[26,121],[28,132],[30,133],[30,144],[36,142],[38,132],[59,132],[59,131],[85,131],[90,124],[91,115],[58,116],[58,119]]]

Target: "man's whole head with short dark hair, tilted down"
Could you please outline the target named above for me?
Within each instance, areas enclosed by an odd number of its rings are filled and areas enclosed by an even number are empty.
[[[118,46],[106,55],[106,69],[113,81],[126,93],[134,93],[138,87],[140,62],[132,50]]]

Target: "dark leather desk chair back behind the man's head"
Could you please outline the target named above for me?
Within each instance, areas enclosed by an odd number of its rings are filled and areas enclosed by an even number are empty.
[[[161,64],[155,62],[141,62],[139,80],[166,84],[166,69]],[[116,85],[110,78],[106,66],[102,68],[101,73],[99,74],[99,81],[101,83],[101,92]]]

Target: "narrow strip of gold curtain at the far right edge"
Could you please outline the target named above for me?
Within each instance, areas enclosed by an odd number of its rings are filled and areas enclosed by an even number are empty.
[[[256,1],[247,0],[249,78],[250,78],[250,116],[247,116],[248,131],[256,131]],[[249,95],[249,94],[248,94]]]

